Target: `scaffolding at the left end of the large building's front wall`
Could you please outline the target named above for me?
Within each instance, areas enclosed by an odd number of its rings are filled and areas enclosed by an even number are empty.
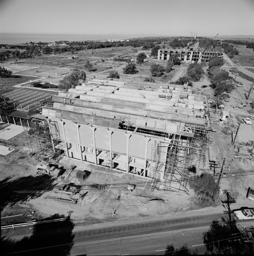
[[[63,157],[64,142],[57,122],[32,118],[29,126],[24,126],[24,131],[30,154],[39,162],[58,163]]]

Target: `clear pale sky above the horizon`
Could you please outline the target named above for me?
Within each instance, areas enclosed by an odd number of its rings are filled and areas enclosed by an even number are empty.
[[[0,0],[0,33],[253,35],[254,0]]]

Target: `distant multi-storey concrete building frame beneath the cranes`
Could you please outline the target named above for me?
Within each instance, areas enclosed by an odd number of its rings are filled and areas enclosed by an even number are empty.
[[[198,63],[207,63],[211,57],[223,57],[222,49],[210,49],[206,51],[201,51],[200,49],[159,49],[158,50],[158,59],[159,60],[169,60],[170,57],[174,54],[179,55],[179,59],[182,62],[192,63],[197,61]]]

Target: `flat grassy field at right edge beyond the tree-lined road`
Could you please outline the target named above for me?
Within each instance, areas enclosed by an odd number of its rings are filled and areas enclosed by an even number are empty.
[[[232,59],[237,65],[254,67],[254,51],[246,46],[236,45],[234,47],[239,51]]]

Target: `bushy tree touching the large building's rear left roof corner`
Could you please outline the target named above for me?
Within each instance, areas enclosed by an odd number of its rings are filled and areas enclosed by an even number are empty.
[[[80,80],[85,81],[85,79],[86,74],[84,71],[74,70],[70,75],[59,81],[58,88],[67,92],[70,88],[76,88]]]

